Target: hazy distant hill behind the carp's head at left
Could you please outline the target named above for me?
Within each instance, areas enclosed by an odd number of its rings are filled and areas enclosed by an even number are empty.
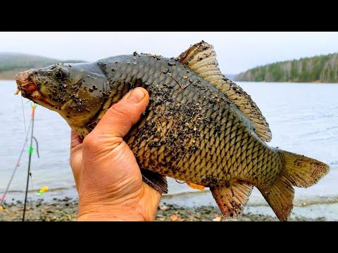
[[[25,53],[0,53],[0,79],[15,79],[18,72],[55,63],[81,63],[80,60],[57,60]]]

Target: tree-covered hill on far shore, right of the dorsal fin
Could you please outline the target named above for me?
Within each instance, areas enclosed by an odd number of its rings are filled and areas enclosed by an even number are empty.
[[[237,74],[234,79],[249,82],[338,82],[338,53],[254,67]]]

